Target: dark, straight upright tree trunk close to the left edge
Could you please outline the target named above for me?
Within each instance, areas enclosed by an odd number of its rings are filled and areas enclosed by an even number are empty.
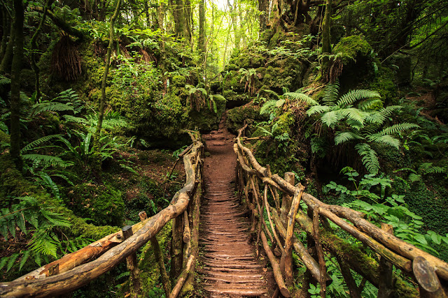
[[[23,59],[23,21],[24,7],[22,0],[14,0],[14,57],[11,66],[11,103],[10,103],[10,154],[20,168],[20,73]]]

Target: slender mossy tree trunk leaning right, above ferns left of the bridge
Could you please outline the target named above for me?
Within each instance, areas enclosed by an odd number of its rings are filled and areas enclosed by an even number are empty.
[[[111,64],[111,53],[112,53],[112,47],[113,47],[113,22],[115,22],[118,12],[120,10],[120,4],[121,0],[117,1],[117,6],[115,8],[115,11],[113,12],[113,15],[111,16],[110,20],[110,27],[109,27],[109,46],[107,47],[107,53],[106,53],[106,67],[104,68],[103,73],[103,80],[101,84],[101,101],[99,103],[99,117],[98,117],[98,124],[97,124],[97,130],[95,131],[94,135],[94,144],[97,144],[99,140],[99,135],[101,133],[101,128],[103,126],[103,119],[104,119],[104,105],[106,105],[106,82],[107,82],[107,75],[109,74],[109,67]]]

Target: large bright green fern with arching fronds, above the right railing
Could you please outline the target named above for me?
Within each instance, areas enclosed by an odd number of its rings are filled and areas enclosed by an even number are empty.
[[[400,110],[398,105],[383,107],[380,96],[375,91],[352,90],[339,97],[339,83],[328,84],[322,104],[312,103],[311,98],[302,94],[300,100],[311,105],[307,110],[309,116],[318,114],[318,121],[335,131],[336,145],[356,142],[363,165],[371,174],[379,172],[377,152],[371,147],[379,144],[398,149],[400,140],[394,135],[401,131],[419,128],[417,124],[400,123],[382,127],[392,112]],[[357,107],[353,105],[358,103]]]

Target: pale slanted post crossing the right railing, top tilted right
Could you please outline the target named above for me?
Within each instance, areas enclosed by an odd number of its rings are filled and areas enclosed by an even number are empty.
[[[288,228],[286,229],[285,238],[285,249],[281,258],[284,260],[285,264],[285,279],[286,285],[288,287],[293,285],[293,234],[294,234],[294,223],[295,214],[299,209],[300,199],[302,198],[302,193],[304,191],[304,186],[300,184],[298,190],[295,192],[293,202],[290,204],[290,211],[288,213]],[[285,200],[285,198],[283,198]]]

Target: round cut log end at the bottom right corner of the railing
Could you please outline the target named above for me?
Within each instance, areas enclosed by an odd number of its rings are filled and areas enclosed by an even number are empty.
[[[416,257],[412,262],[414,276],[419,283],[420,297],[447,298],[434,268],[423,257]]]

